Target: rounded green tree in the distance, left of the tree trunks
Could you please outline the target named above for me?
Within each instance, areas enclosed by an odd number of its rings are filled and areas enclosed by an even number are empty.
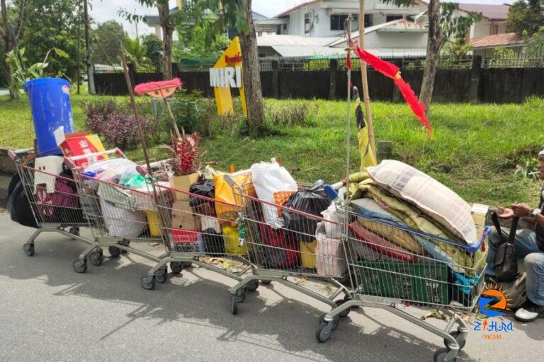
[[[127,36],[123,25],[110,20],[98,24],[92,33],[91,61],[94,64],[110,64],[119,62],[121,39]]]

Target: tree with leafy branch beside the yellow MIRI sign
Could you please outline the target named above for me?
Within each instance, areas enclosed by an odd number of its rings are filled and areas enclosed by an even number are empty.
[[[197,8],[200,9],[198,13],[203,13],[206,9],[217,13],[217,18],[208,28],[210,40],[225,33],[228,26],[237,28],[242,47],[242,77],[246,93],[249,132],[254,135],[262,134],[266,131],[266,126],[251,0],[199,0]]]

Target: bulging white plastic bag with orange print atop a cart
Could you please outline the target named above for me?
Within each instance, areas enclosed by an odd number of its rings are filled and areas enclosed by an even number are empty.
[[[275,159],[272,163],[254,163],[250,170],[257,197],[264,202],[283,205],[290,195],[297,192],[297,182]],[[263,203],[264,221],[272,228],[281,228],[281,210],[270,204]]]

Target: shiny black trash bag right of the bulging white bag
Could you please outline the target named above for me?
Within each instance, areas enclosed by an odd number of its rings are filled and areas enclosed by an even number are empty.
[[[331,204],[323,186],[324,182],[319,180],[309,189],[295,192],[283,206],[321,217],[321,212]],[[287,209],[282,209],[282,214],[285,228],[293,231],[297,241],[312,243],[315,240],[315,229],[319,220]]]

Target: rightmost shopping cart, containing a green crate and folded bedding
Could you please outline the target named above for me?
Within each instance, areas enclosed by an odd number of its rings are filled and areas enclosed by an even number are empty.
[[[342,217],[346,259],[353,278],[351,300],[319,321],[316,338],[327,341],[338,316],[361,306],[385,309],[444,339],[435,362],[455,361],[465,346],[467,323],[455,311],[474,310],[485,287],[486,228],[480,240],[467,245],[350,209],[327,187]],[[442,310],[449,317],[443,328],[407,312],[407,305]],[[400,308],[399,308],[400,306]],[[454,329],[454,325],[458,325]]]

